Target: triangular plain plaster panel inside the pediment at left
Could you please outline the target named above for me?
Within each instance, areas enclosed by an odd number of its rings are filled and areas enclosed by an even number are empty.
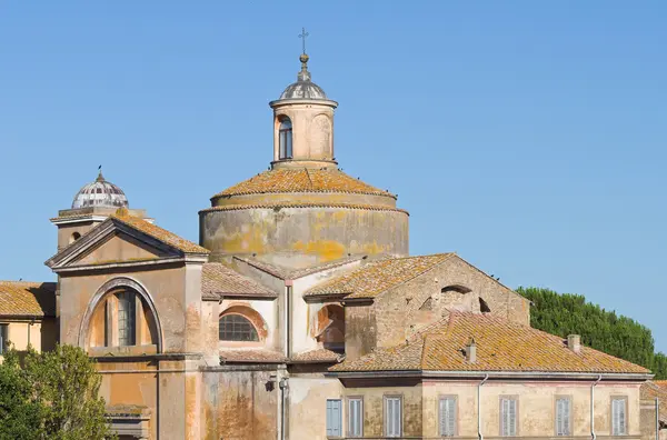
[[[108,264],[129,261],[156,260],[176,254],[156,249],[125,232],[116,232],[97,247],[72,260],[73,266]]]

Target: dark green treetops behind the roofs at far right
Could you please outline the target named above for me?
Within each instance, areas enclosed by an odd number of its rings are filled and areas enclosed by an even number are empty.
[[[580,294],[559,294],[549,289],[518,288],[532,301],[530,326],[566,338],[580,334],[581,343],[650,369],[667,379],[667,357],[655,352],[650,330],[635,320],[586,302]]]

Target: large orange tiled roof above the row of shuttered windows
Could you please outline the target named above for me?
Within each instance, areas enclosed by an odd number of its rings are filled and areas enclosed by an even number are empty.
[[[477,361],[467,362],[462,350],[474,338]],[[482,313],[451,312],[440,324],[407,343],[376,350],[332,371],[520,371],[571,373],[639,373],[644,367],[581,347],[571,351],[563,338]]]

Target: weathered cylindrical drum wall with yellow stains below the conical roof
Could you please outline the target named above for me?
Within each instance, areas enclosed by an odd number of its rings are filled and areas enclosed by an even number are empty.
[[[201,244],[211,260],[257,254],[307,267],[348,254],[408,254],[408,214],[347,208],[252,208],[202,211]]]

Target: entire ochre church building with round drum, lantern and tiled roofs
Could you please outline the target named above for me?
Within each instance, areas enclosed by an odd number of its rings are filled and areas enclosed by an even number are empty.
[[[0,283],[0,324],[86,350],[121,439],[656,438],[650,371],[530,328],[456,253],[409,256],[408,212],[338,168],[338,103],[300,62],[269,170],[210,199],[199,243],[100,172],[51,219],[58,282]]]

